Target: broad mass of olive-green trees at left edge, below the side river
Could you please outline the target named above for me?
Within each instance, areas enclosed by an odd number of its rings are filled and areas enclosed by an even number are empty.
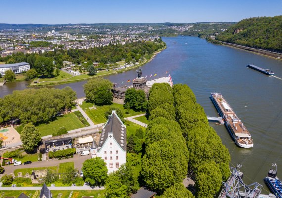
[[[0,123],[20,119],[22,124],[48,122],[58,113],[70,109],[76,93],[63,89],[25,89],[0,98]]]

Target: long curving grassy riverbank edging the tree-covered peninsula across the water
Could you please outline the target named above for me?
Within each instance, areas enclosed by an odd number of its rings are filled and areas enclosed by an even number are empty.
[[[104,77],[104,76],[109,76],[109,75],[113,75],[113,74],[123,73],[125,71],[128,71],[128,70],[131,70],[131,69],[145,65],[146,63],[150,62],[158,53],[160,53],[164,49],[166,49],[166,46],[162,49],[155,51],[149,59],[144,57],[143,62],[141,62],[140,64],[137,64],[137,65],[134,65],[132,67],[129,67],[129,68],[125,68],[125,69],[121,69],[121,70],[104,71],[103,73],[97,73],[97,75],[95,75],[95,76],[88,76],[88,75],[73,76],[71,78],[61,80],[61,81],[45,81],[45,82],[42,82],[42,83],[34,83],[33,82],[30,85],[28,85],[28,87],[44,87],[44,86],[62,85],[62,84],[68,84],[68,83],[75,83],[75,82],[90,80],[90,79],[97,78],[97,77]]]

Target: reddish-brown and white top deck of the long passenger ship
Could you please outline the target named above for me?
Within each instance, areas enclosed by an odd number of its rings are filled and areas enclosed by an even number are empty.
[[[232,108],[229,106],[229,104],[226,102],[226,100],[220,95],[221,97],[215,97],[212,96],[218,107],[220,108],[221,112],[227,116],[226,122],[229,123],[230,127],[232,128],[235,135],[239,138],[239,142],[242,144],[252,144],[251,134],[246,129],[246,127],[243,125],[241,120],[237,117],[235,112],[232,110]]]

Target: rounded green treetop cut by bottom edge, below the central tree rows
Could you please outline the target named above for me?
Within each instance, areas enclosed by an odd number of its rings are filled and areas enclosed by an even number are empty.
[[[177,183],[165,190],[161,198],[195,198],[191,191],[187,190],[182,183]]]

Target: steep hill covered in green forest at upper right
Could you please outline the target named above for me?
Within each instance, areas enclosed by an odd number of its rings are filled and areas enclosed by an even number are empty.
[[[282,52],[282,16],[255,17],[241,20],[217,40],[253,48]]]

